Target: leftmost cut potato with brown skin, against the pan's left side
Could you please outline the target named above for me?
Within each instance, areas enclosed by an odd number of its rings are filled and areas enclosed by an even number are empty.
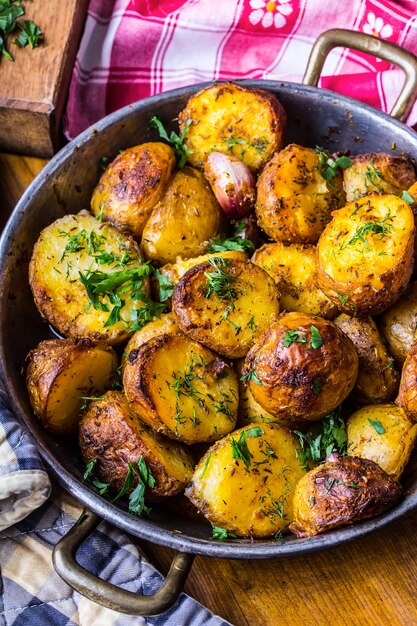
[[[112,348],[89,339],[41,341],[27,358],[33,411],[57,435],[77,432],[84,397],[102,394],[118,365]]]

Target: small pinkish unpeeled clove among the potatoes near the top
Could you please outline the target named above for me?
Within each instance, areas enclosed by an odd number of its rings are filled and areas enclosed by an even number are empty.
[[[229,154],[211,152],[204,174],[214,195],[230,220],[250,213],[255,204],[255,177],[247,165]]]

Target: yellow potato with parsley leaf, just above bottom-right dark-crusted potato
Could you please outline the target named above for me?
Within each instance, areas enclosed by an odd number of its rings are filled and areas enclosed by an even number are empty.
[[[384,432],[378,433],[372,422]],[[365,406],[348,418],[346,432],[349,454],[374,461],[387,474],[400,479],[417,438],[417,424],[403,409],[395,404]]]

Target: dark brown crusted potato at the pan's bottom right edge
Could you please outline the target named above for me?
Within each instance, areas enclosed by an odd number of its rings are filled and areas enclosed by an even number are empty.
[[[297,537],[312,537],[374,517],[393,506],[401,494],[401,485],[373,461],[329,458],[297,484],[290,530]]]

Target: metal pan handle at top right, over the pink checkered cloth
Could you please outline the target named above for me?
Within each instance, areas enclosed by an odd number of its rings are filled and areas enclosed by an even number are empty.
[[[398,65],[405,72],[405,82],[391,115],[398,120],[406,119],[417,98],[417,57],[395,43],[379,39],[373,35],[357,33],[343,28],[332,28],[322,33],[311,51],[304,74],[304,85],[317,86],[327,55],[330,50],[338,47],[366,52]]]

